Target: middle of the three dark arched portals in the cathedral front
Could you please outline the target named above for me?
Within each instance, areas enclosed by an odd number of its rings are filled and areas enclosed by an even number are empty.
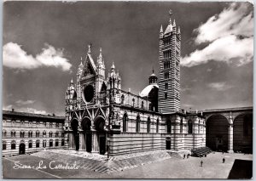
[[[81,122],[81,126],[84,130],[84,141],[85,141],[85,149],[87,152],[91,152],[91,143],[92,143],[92,135],[90,131],[91,121],[88,117],[84,117]]]

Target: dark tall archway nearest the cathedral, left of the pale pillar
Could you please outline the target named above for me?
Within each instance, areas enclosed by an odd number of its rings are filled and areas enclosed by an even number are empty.
[[[228,150],[229,122],[225,116],[212,115],[207,119],[207,147],[217,151]]]

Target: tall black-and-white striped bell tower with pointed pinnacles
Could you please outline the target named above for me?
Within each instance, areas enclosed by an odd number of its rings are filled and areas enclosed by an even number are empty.
[[[172,10],[170,10],[172,16]],[[181,33],[175,20],[169,20],[166,31],[160,27],[160,79],[159,79],[159,111],[171,114],[180,111],[180,54]]]

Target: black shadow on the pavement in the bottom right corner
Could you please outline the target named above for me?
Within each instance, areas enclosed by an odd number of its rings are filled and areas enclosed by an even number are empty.
[[[253,178],[253,161],[236,159],[228,179]]]

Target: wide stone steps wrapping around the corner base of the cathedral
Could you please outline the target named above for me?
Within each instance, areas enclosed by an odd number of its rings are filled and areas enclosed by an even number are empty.
[[[116,156],[111,157],[110,160],[107,160],[106,156],[84,156],[77,154],[70,155],[70,152],[65,151],[59,153],[57,151],[52,150],[44,150],[37,153],[32,154],[32,156],[42,157],[48,160],[61,161],[63,163],[73,163],[76,161],[76,164],[79,165],[80,168],[84,168],[85,170],[97,172],[97,173],[115,173],[120,172],[125,169],[130,169],[134,167],[143,166],[145,164],[149,164],[156,161],[163,161],[166,159],[182,159],[177,153],[173,153],[172,151],[159,150],[148,152],[148,154],[132,154],[132,156]],[[91,159],[91,158],[94,159]]]

